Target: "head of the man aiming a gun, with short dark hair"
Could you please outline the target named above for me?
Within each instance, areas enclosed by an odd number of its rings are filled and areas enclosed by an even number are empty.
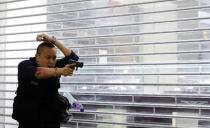
[[[56,64],[55,46],[51,43],[41,43],[37,47],[36,62],[40,67],[54,67]]]

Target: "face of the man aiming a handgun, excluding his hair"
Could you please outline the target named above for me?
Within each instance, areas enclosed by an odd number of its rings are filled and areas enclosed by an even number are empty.
[[[40,53],[36,54],[36,62],[39,67],[53,68],[56,64],[56,49],[43,47]]]

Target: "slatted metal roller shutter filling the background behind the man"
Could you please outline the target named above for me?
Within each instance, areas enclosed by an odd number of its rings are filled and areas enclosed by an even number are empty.
[[[61,78],[85,106],[62,127],[208,127],[209,25],[208,0],[1,0],[0,127],[17,127],[17,64],[34,56],[38,33],[85,63]]]

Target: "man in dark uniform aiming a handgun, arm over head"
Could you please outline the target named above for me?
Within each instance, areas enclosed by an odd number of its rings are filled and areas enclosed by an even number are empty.
[[[71,76],[75,65],[67,62],[79,58],[55,37],[39,34],[36,40],[43,43],[37,47],[35,57],[18,65],[12,117],[19,122],[19,128],[60,128],[59,112],[55,107],[59,78]],[[64,58],[56,60],[55,46]]]

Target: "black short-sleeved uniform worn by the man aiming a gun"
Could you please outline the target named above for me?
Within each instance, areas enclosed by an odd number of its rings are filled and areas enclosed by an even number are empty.
[[[57,60],[55,67],[64,67],[69,59],[79,58],[72,52]],[[60,128],[59,111],[56,109],[59,77],[37,79],[37,67],[35,58],[24,60],[18,65],[18,88],[12,118],[19,122],[19,128]]]

